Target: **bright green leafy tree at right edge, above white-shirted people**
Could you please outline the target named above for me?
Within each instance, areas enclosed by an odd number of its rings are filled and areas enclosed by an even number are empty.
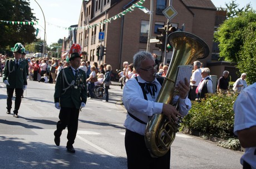
[[[227,19],[214,34],[219,42],[220,56],[237,63],[238,74],[247,73],[249,84],[256,81],[255,22],[255,11],[242,12],[237,17]]]

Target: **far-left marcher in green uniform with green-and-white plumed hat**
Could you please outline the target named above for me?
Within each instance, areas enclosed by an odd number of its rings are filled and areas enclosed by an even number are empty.
[[[26,62],[21,59],[23,45],[16,43],[14,48],[11,48],[14,58],[8,59],[3,71],[3,83],[7,88],[7,114],[11,114],[12,97],[15,89],[15,106],[13,116],[18,117],[19,106],[21,105],[21,96],[23,90],[27,89],[27,71]]]

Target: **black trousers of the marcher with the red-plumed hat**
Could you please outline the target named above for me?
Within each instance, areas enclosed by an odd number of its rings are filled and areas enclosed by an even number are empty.
[[[60,137],[62,130],[67,127],[67,148],[72,147],[76,139],[78,127],[79,109],[70,107],[61,107],[58,115],[60,121],[57,122],[57,130],[54,132],[56,137]]]

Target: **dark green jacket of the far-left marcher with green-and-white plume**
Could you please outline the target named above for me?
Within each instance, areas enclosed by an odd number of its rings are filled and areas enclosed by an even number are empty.
[[[6,61],[3,71],[3,81],[8,80],[10,85],[7,85],[7,88],[22,89],[24,85],[27,85],[27,63],[19,59],[19,66],[17,68],[14,61],[14,58]]]

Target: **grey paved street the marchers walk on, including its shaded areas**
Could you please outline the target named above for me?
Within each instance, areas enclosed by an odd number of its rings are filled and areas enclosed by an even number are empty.
[[[120,86],[111,86],[109,103],[87,100],[79,117],[75,154],[66,151],[67,130],[59,147],[53,141],[58,121],[53,93],[54,84],[28,81],[16,119],[6,114],[6,88],[0,78],[0,168],[127,168]],[[171,168],[242,168],[242,152],[198,137],[178,133],[171,148]]]

